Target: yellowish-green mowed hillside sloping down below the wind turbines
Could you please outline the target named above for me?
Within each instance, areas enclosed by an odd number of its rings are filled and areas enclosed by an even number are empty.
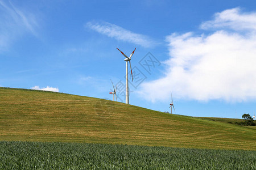
[[[256,150],[253,128],[14,88],[0,88],[0,140]]]

